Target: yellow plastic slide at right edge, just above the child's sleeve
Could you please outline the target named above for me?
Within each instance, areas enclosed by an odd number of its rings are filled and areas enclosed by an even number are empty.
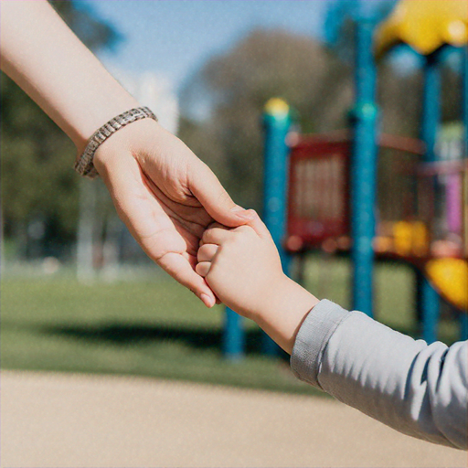
[[[426,263],[426,274],[443,298],[463,312],[468,310],[468,261],[433,259]]]

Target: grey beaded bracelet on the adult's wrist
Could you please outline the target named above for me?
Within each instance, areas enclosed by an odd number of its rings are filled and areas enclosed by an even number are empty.
[[[139,121],[146,118],[154,119],[157,122],[157,117],[147,107],[137,107],[130,111],[123,112],[117,117],[114,117],[109,122],[104,123],[95,133],[92,134],[83,154],[75,164],[75,170],[81,175],[93,179],[98,176],[98,171],[94,167],[92,160],[96,150],[103,144],[112,133],[117,132],[129,123]]]

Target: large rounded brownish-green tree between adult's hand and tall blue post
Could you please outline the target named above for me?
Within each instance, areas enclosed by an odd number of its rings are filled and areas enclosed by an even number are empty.
[[[322,132],[346,125],[351,91],[349,67],[319,41],[282,30],[255,30],[208,61],[187,84],[183,101],[194,107],[204,96],[211,112],[201,123],[182,120],[180,137],[238,203],[259,209],[265,103],[282,97],[303,131]]]

